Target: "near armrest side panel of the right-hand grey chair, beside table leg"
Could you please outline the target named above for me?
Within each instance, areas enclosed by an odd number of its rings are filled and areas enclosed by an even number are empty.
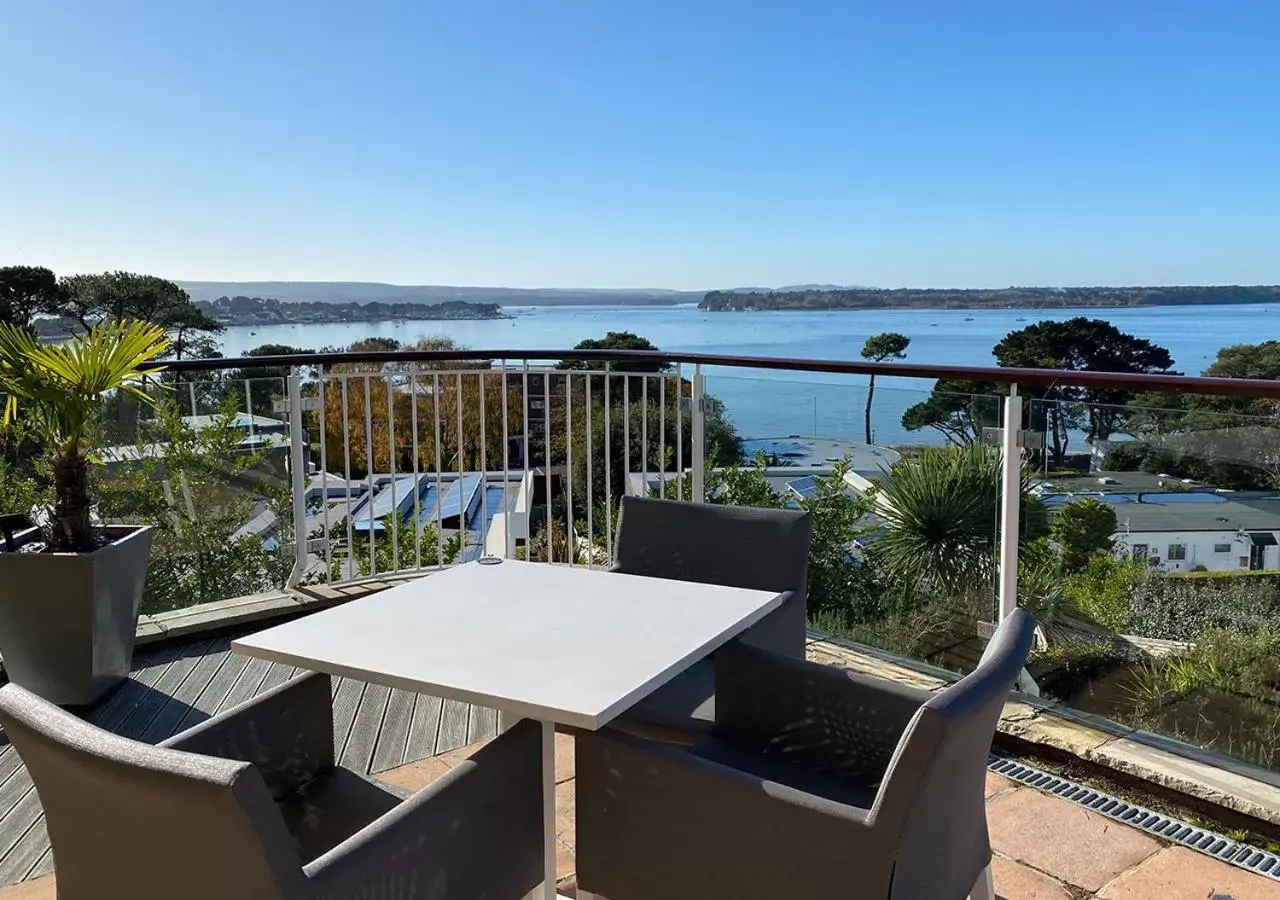
[[[612,730],[575,741],[580,890],[603,896],[872,896],[892,853],[868,812]],[[870,873],[870,876],[868,874]]]

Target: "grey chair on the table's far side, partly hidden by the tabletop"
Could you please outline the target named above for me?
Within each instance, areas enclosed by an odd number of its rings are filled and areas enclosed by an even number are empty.
[[[728,588],[776,590],[782,606],[741,640],[804,658],[808,512],[622,498],[613,571]],[[703,659],[617,722],[631,734],[687,744],[716,718],[716,671]]]

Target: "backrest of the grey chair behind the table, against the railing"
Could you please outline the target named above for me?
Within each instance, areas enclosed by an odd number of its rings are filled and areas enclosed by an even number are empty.
[[[630,575],[755,590],[790,590],[773,629],[744,640],[777,653],[804,652],[810,513],[623,497],[614,568]],[[764,625],[762,622],[762,625]],[[777,634],[760,640],[764,631]],[[799,650],[797,650],[799,648]]]

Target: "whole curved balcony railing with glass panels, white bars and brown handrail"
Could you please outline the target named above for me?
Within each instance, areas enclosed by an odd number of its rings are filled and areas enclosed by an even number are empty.
[[[817,626],[963,670],[1028,606],[1047,693],[1280,769],[1280,383],[517,350],[156,382],[168,430],[116,411],[104,478],[146,478],[102,510],[168,529],[156,608],[485,554],[607,566],[625,494],[806,506]],[[1051,524],[1098,506],[1112,533],[1071,557]]]

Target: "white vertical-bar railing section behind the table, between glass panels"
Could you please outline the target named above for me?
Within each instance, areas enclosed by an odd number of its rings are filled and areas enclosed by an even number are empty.
[[[306,538],[292,585],[529,556],[535,539],[549,562],[607,566],[622,493],[704,490],[700,366],[317,366],[294,369],[288,393]]]

